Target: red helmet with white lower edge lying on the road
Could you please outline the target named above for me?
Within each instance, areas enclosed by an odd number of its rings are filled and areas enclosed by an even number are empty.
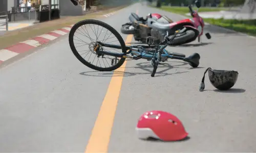
[[[162,141],[178,141],[188,135],[176,116],[163,111],[149,111],[141,115],[136,131],[140,139],[151,137]]]

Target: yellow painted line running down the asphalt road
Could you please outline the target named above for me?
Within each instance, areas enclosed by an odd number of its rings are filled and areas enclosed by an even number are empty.
[[[131,42],[132,39],[133,35],[128,35],[125,41],[126,45],[131,45],[127,42]],[[126,61],[113,73],[85,152],[108,152],[125,65]]]

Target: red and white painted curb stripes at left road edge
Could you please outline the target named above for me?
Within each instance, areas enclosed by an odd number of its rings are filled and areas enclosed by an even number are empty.
[[[3,64],[3,62],[5,62],[19,54],[26,53],[30,49],[38,47],[42,44],[47,44],[50,41],[55,40],[58,37],[68,34],[72,27],[73,27],[73,25],[70,25],[68,27],[52,31],[52,32],[49,32],[44,35],[40,35],[40,36],[31,38],[31,39],[23,41],[23,42],[19,42],[15,45],[12,45],[5,49],[1,49],[0,50],[0,65]]]

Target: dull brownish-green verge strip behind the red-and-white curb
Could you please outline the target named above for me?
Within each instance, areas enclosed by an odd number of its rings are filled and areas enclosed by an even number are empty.
[[[65,16],[65,17],[61,17],[60,19],[34,24],[32,26],[18,29],[15,31],[8,31],[5,33],[5,35],[0,37],[0,49],[4,49],[18,42],[22,42],[42,34],[46,34],[48,32],[51,32],[63,27],[67,27],[69,25],[75,24],[76,22],[84,19],[100,18],[100,16],[103,14],[120,10],[124,7],[125,6],[112,8],[112,9],[104,10],[102,12],[95,12],[95,13],[86,14],[83,16]]]

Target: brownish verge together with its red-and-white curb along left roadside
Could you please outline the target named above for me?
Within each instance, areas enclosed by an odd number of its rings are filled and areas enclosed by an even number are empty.
[[[33,48],[45,45],[58,37],[69,34],[73,24],[84,19],[105,18],[126,6],[103,10],[82,16],[65,16],[22,29],[5,32],[0,37],[0,67],[33,53]],[[1,31],[0,31],[1,33]],[[8,62],[9,61],[9,62]]]

